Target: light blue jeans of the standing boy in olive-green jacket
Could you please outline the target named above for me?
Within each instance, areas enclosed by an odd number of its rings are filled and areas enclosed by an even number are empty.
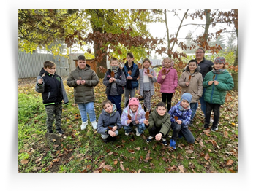
[[[78,108],[82,117],[82,122],[87,121],[87,114],[89,114],[90,121],[96,121],[96,115],[94,111],[94,102],[89,102],[86,104],[78,104]]]

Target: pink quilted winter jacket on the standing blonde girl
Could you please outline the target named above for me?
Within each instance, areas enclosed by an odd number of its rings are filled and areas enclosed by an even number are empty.
[[[166,70],[166,72],[170,70],[168,74],[166,74],[165,79],[162,79],[162,70]],[[175,93],[178,86],[178,75],[176,69],[173,69],[173,67],[170,67],[169,69],[163,67],[158,73],[157,82],[161,84],[161,93]]]

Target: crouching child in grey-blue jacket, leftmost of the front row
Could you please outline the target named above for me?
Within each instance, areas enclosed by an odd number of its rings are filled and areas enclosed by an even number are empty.
[[[121,129],[120,114],[116,110],[116,105],[108,99],[102,102],[102,108],[97,123],[97,132],[102,135],[105,143],[115,141],[118,130]]]

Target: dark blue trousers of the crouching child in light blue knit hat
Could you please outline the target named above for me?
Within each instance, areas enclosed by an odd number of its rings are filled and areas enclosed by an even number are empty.
[[[172,122],[172,124],[170,125],[170,128],[173,129],[172,139],[174,141],[177,141],[178,135],[181,135],[181,136],[184,136],[184,138],[189,143],[192,144],[195,142],[195,138],[187,126],[183,126],[181,124],[178,124],[177,122]]]

